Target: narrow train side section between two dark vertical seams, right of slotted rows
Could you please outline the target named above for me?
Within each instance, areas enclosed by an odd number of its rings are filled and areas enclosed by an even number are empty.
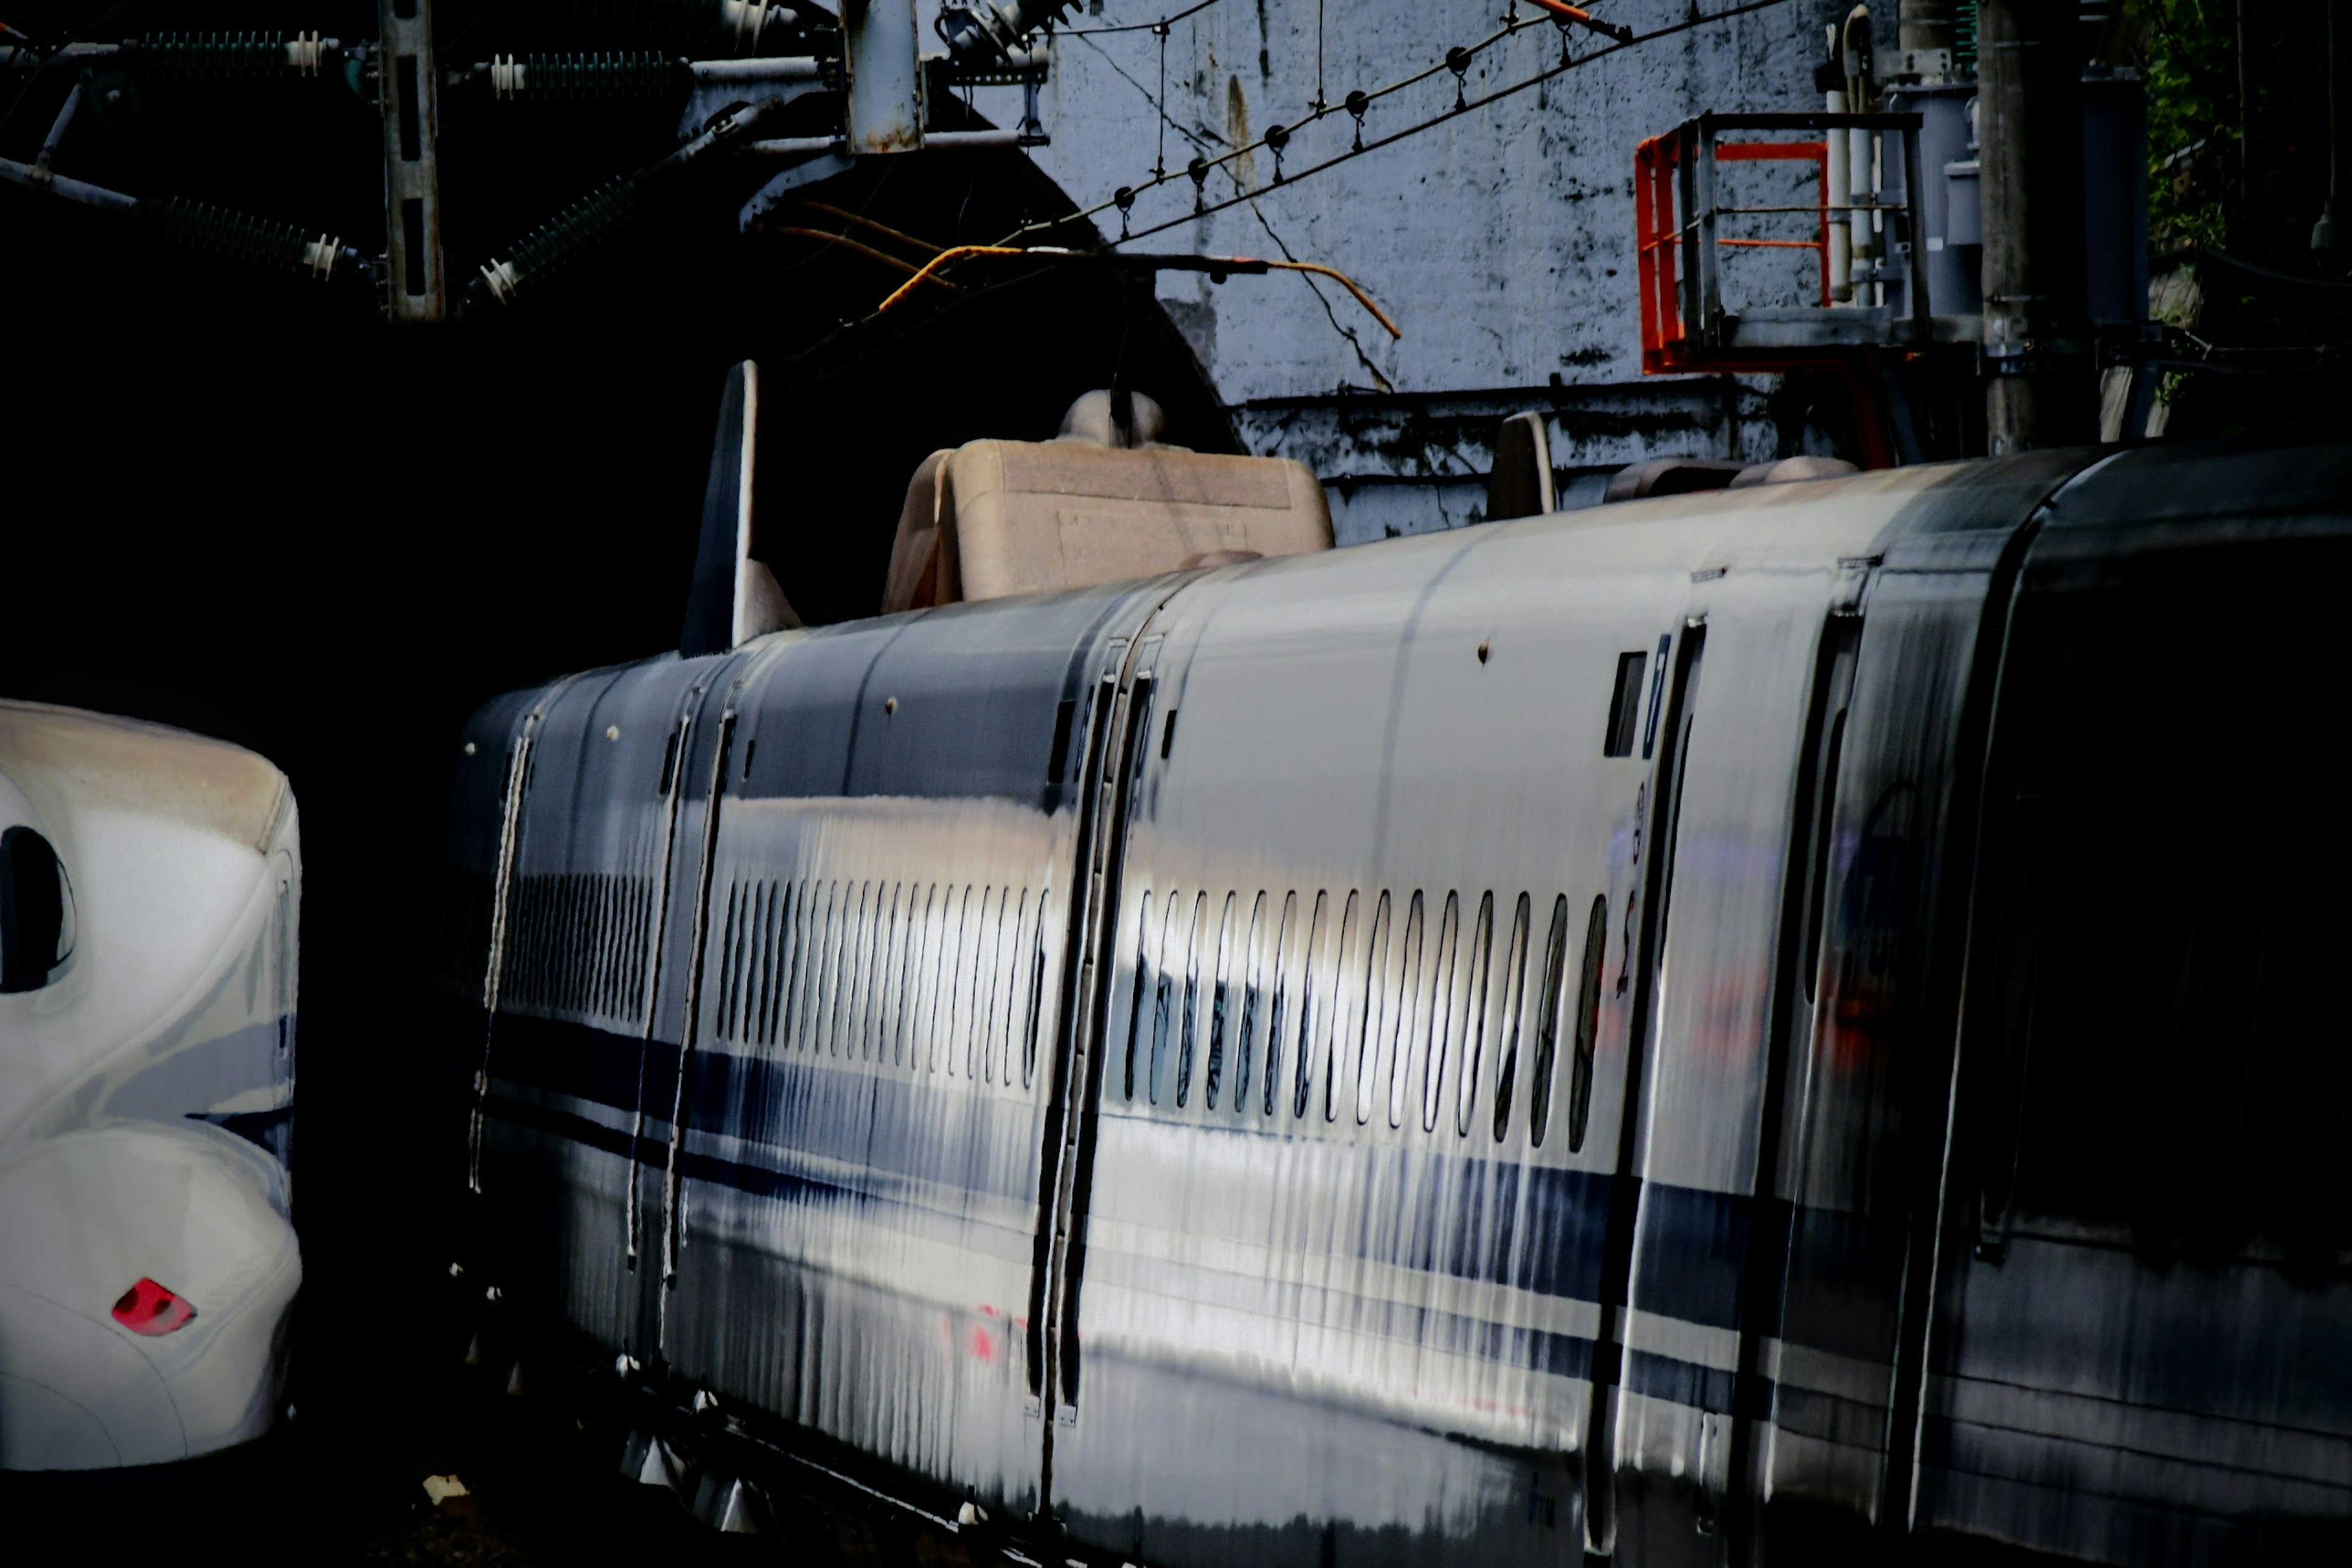
[[[1583,1441],[1588,1549],[1618,1561],[1722,1563],[1733,1540],[1780,1279],[1792,976],[1863,571],[1842,569],[1828,604],[1818,578],[1724,583],[1670,656]]]

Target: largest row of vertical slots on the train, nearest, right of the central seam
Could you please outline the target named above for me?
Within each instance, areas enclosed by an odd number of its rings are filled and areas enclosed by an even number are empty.
[[[1305,898],[1305,903],[1303,903]],[[1336,914],[1334,914],[1336,905]],[[1369,910],[1367,910],[1369,905]],[[1435,914],[1432,914],[1435,905]],[[1402,907],[1402,912],[1399,912]],[[1338,1067],[1352,1070],[1357,1124],[1385,1110],[1388,1126],[1446,1121],[1468,1138],[1482,1067],[1494,1060],[1494,1138],[1510,1131],[1519,1046],[1529,1039],[1529,1138],[1550,1128],[1569,896],[1552,898],[1541,964],[1529,964],[1534,898],[1510,910],[1496,954],[1496,896],[1331,891],[1301,896],[1171,889],[1136,903],[1134,992],[1127,1018],[1127,1100],[1185,1110],[1195,1081],[1204,1110],[1303,1119],[1322,1081],[1324,1121],[1343,1107]],[[1569,1013],[1569,1150],[1583,1150],[1599,1032],[1599,980],[1609,900],[1585,922],[1578,992]],[[1529,985],[1534,980],[1534,987]],[[1534,1006],[1534,1020],[1529,1009]],[[1385,1095],[1383,1095],[1385,1086]]]

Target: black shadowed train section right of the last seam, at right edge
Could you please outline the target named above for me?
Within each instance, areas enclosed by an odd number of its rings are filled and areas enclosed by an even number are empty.
[[[2310,748],[2352,541],[2265,527],[2060,522],[2025,562],[1915,1528],[2098,1561],[2352,1542],[2352,830]]]

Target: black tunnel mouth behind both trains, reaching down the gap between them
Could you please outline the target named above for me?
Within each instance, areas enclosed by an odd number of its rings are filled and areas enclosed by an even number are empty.
[[[9,24],[89,35],[89,16],[47,9]],[[355,40],[372,16],[252,5],[228,21]],[[125,7],[96,35],[191,21]],[[440,26],[459,59],[517,47],[492,7],[452,5]],[[68,85],[0,75],[0,155],[31,160]],[[659,158],[675,118],[454,103],[452,275]],[[341,82],[151,82],[134,122],[78,129],[59,169],[381,247],[379,122]],[[499,691],[675,646],[724,369],[762,364],[760,548],[811,621],[873,611],[906,482],[936,447],[1042,440],[1112,378],[1167,404],[1174,440],[1232,444],[1148,280],[983,261],[927,289],[938,303],[866,320],[903,268],[736,233],[771,172],[715,169],[510,310],[407,331],[367,287],[0,190],[0,696],[249,745],[301,804],[299,1425],[266,1472],[287,1535],[245,1535],[249,1554],[355,1549],[334,1521],[407,1509],[454,1420],[421,1394],[414,1314],[447,1267],[426,1215],[449,1173],[421,1159],[447,1145],[423,1121],[421,1063],[454,733]],[[903,158],[804,195],[934,247],[1068,212],[1007,150]],[[779,228],[854,228],[788,216]]]

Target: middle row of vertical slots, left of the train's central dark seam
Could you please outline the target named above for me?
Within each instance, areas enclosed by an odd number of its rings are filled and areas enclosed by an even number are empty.
[[[1049,898],[906,882],[736,882],[715,1034],[1025,1086],[1037,1074]]]

